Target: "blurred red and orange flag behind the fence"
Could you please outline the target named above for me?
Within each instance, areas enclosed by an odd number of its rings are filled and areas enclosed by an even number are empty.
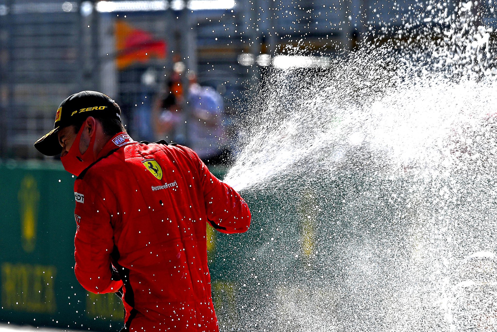
[[[135,62],[148,62],[152,57],[166,58],[166,42],[154,39],[148,31],[137,29],[117,20],[115,24],[117,69],[122,70]]]

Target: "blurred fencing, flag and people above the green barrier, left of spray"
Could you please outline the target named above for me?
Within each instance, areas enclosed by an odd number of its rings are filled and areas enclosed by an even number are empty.
[[[97,90],[121,106],[135,140],[226,162],[234,115],[264,67],[291,66],[281,57],[290,49],[343,56],[366,30],[393,35],[414,18],[410,1],[0,0],[0,158],[45,158],[33,142],[53,128],[60,102]],[[489,8],[473,6],[486,24]]]

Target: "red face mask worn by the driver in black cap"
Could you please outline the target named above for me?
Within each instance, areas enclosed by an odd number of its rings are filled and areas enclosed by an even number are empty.
[[[81,135],[83,134],[83,128],[84,123],[81,126],[80,131],[78,132],[78,136],[76,136],[76,139],[73,142],[73,145],[69,149],[69,152],[64,157],[61,157],[64,169],[76,176],[79,176],[86,167],[96,161],[95,155],[93,153],[93,145],[95,144],[96,136],[95,133],[93,133],[93,136],[90,138],[90,144],[88,145],[86,151],[84,151],[84,153],[80,152],[80,139]]]

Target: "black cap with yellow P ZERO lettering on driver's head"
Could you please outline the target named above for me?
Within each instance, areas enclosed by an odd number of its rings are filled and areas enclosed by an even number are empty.
[[[82,91],[69,96],[57,109],[54,129],[38,139],[34,147],[46,156],[58,155],[62,151],[57,137],[60,128],[76,124],[88,116],[95,115],[121,121],[121,111],[116,105],[110,97],[96,91]]]

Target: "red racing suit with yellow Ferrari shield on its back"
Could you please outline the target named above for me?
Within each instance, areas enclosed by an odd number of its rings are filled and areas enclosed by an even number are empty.
[[[74,267],[93,293],[123,287],[123,331],[219,331],[206,222],[248,229],[242,197],[191,149],[115,135],[75,181]]]

